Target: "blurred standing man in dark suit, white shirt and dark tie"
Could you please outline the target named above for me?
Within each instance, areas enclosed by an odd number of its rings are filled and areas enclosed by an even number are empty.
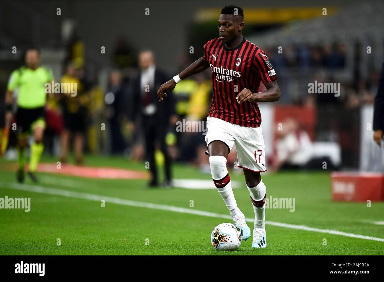
[[[155,142],[158,141],[160,150],[165,160],[164,186],[172,186],[171,159],[166,144],[166,134],[170,126],[175,126],[175,102],[172,92],[167,93],[166,103],[159,103],[157,89],[168,81],[169,75],[156,68],[154,54],[150,50],[139,54],[139,76],[132,86],[133,109],[132,120],[140,117],[141,129],[144,132],[146,161],[149,161],[149,169],[152,179],[149,186],[157,186],[157,169],[155,163]]]

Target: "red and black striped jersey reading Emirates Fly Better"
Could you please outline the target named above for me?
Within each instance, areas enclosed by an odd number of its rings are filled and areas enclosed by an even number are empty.
[[[237,94],[244,88],[258,92],[260,81],[266,84],[276,79],[265,52],[245,38],[233,49],[225,47],[220,38],[204,45],[204,61],[212,71],[214,96],[209,116],[232,124],[259,127],[262,122],[257,102],[236,102]]]

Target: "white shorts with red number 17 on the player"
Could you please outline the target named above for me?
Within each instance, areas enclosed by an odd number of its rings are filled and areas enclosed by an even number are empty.
[[[262,128],[245,127],[231,124],[222,119],[207,117],[208,132],[205,135],[207,148],[212,141],[224,142],[229,150],[232,150],[233,142],[237,150],[237,166],[252,170],[253,172],[265,172],[265,151]]]

